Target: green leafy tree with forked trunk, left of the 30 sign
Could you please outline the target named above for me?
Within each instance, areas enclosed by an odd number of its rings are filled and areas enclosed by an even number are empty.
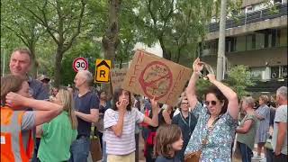
[[[87,11],[87,0],[23,0],[19,3],[32,20],[39,23],[49,33],[57,45],[55,52],[55,85],[60,84],[61,61],[80,33],[89,31],[95,24],[92,12]]]

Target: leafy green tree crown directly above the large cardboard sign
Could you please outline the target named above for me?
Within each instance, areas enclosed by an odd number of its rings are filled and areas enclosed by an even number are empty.
[[[212,0],[145,0],[139,2],[140,40],[159,43],[163,58],[180,63],[180,58],[194,58],[196,44],[211,18]],[[191,60],[192,62],[192,60]]]

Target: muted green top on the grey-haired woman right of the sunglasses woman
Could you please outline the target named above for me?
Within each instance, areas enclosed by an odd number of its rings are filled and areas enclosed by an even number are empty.
[[[257,131],[257,124],[258,120],[257,117],[254,114],[247,114],[243,120],[241,121],[239,127],[242,127],[244,125],[244,122],[247,120],[252,120],[252,125],[250,127],[250,130],[248,130],[247,133],[241,134],[238,133],[237,135],[237,141],[240,143],[244,143],[249,147],[251,150],[254,149],[254,143],[255,143],[255,136]]]

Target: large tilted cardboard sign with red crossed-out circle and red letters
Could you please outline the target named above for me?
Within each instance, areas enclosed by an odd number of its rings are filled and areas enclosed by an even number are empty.
[[[188,67],[137,50],[122,88],[149,98],[155,96],[158,103],[175,105],[191,75]]]

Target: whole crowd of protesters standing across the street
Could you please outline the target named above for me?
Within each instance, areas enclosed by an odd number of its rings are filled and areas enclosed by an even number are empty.
[[[270,102],[266,95],[259,96],[256,109],[254,98],[238,100],[229,86],[208,74],[211,86],[203,101],[198,100],[196,83],[203,64],[196,58],[188,85],[178,104],[171,106],[121,88],[109,98],[105,91],[91,88],[94,78],[87,70],[77,72],[75,88],[52,87],[49,93],[48,77],[35,80],[27,75],[27,49],[15,49],[9,66],[11,75],[1,78],[4,162],[85,162],[91,152],[90,135],[100,139],[102,161],[139,161],[139,134],[148,162],[232,161],[233,148],[239,148],[244,162],[259,158],[262,150],[267,162],[287,158],[285,86]]]

